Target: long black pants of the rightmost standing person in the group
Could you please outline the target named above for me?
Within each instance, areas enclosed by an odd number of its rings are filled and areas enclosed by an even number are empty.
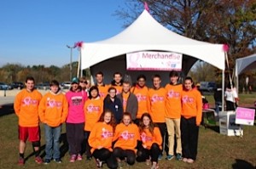
[[[195,117],[189,119],[181,117],[181,135],[183,157],[196,160],[199,127],[196,126]]]

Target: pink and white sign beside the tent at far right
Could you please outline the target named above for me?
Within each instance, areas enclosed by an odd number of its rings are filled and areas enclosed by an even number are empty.
[[[253,126],[254,115],[255,115],[254,109],[237,107],[237,109],[236,109],[236,124]]]

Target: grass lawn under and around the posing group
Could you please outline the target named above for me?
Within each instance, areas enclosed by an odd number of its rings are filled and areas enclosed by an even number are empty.
[[[0,168],[95,168],[94,161],[76,161],[69,163],[66,153],[61,164],[55,162],[38,165],[31,156],[25,166],[17,166],[19,157],[17,117],[14,114],[0,116]],[[63,127],[65,128],[65,127]],[[216,129],[216,128],[215,128]],[[217,128],[218,129],[218,128]],[[63,130],[64,132],[64,130]],[[237,168],[253,169],[256,166],[256,127],[244,127],[243,138],[220,135],[214,130],[200,127],[200,138],[197,161],[189,165],[182,161],[160,161],[160,168]],[[62,145],[63,143],[61,143]],[[42,146],[44,147],[44,128],[42,127]],[[67,147],[66,147],[67,149]],[[43,150],[44,152],[44,150]],[[42,154],[43,154],[42,152]],[[32,154],[32,145],[27,143],[25,156]],[[104,168],[107,168],[105,165]],[[124,167],[128,168],[128,167]],[[132,168],[150,168],[145,163],[136,163]]]

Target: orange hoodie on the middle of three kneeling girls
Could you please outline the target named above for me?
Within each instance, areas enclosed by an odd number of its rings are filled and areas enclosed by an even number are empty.
[[[139,131],[136,124],[131,123],[128,126],[125,126],[124,123],[120,123],[114,132],[113,140],[116,140],[116,143],[113,147],[119,147],[121,149],[131,149],[136,152],[137,140],[139,140]]]

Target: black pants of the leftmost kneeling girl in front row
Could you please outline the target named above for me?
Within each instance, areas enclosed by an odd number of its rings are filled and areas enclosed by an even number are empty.
[[[108,168],[117,168],[117,161],[113,157],[113,153],[109,151],[108,149],[102,148],[102,149],[96,149],[92,153],[92,156],[94,158],[99,159],[100,161],[106,161]]]

